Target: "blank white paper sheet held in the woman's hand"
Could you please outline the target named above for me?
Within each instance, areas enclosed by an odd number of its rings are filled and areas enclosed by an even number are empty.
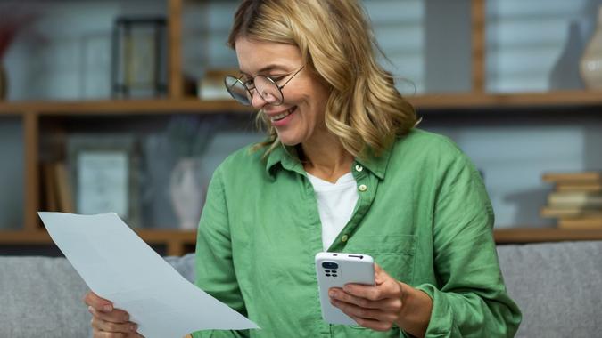
[[[117,214],[38,214],[87,286],[128,311],[144,337],[259,328],[188,282]]]

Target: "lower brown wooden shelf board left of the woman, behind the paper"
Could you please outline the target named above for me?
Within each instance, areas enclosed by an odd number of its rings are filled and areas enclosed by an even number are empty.
[[[195,230],[135,229],[136,234],[149,245],[166,245],[168,255],[186,254],[186,247],[196,243]],[[0,245],[52,245],[54,242],[44,229],[36,231],[0,231]]]

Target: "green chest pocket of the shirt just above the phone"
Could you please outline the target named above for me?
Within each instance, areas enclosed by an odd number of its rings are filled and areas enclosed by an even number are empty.
[[[392,278],[408,285],[414,282],[416,235],[362,236],[359,243],[349,243],[345,251],[369,254]]]

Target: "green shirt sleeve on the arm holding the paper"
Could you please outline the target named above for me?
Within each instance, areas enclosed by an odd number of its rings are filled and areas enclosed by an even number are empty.
[[[196,239],[196,286],[246,316],[243,296],[236,281],[221,171],[210,181]],[[198,331],[194,338],[245,337],[243,331]]]

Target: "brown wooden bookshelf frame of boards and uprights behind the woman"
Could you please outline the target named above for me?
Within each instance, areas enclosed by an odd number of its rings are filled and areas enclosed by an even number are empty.
[[[87,100],[87,101],[0,101],[0,117],[21,117],[25,173],[23,189],[24,217],[21,230],[0,231],[0,245],[52,245],[52,240],[40,227],[40,181],[37,165],[40,161],[40,121],[45,123],[62,117],[136,117],[170,114],[252,114],[253,109],[235,101],[201,101],[186,97],[182,64],[183,0],[166,0],[169,36],[169,93],[152,100]],[[483,117],[499,116],[499,110],[540,114],[549,109],[587,111],[602,117],[602,91],[557,91],[548,93],[487,93],[486,92],[486,2],[471,0],[472,31],[471,83],[469,93],[429,93],[406,95],[419,111],[436,111],[454,116],[459,111]],[[59,117],[54,119],[54,117]],[[567,117],[570,118],[570,117]],[[136,232],[151,245],[166,245],[167,254],[185,254],[194,246],[194,231],[169,229],[139,229]],[[602,230],[496,229],[498,244],[555,242],[563,240],[602,239]]]

